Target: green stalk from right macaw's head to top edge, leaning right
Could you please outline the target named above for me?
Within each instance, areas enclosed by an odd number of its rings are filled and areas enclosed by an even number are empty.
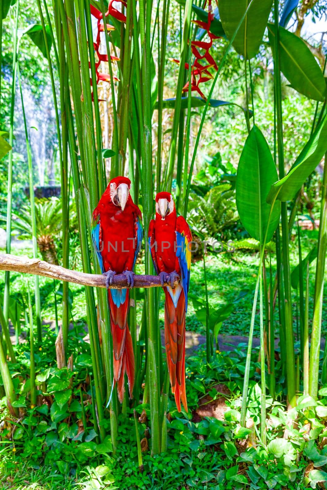
[[[169,151],[168,172],[167,172],[167,180],[165,185],[167,191],[169,191],[172,188],[172,181],[173,181],[173,172],[174,172],[175,157],[176,157],[176,145],[177,145],[177,132],[179,126],[180,112],[181,112],[180,109],[181,95],[182,95],[182,89],[183,89],[184,78],[185,78],[185,62],[187,59],[187,52],[188,52],[191,15],[192,15],[192,0],[186,0],[184,21],[183,21],[183,34],[182,34],[180,54],[179,54],[180,59],[179,59],[172,136],[171,136],[171,144],[170,144],[170,151]]]

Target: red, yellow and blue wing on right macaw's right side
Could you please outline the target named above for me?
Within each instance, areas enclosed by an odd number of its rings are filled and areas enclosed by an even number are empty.
[[[187,311],[187,293],[190,286],[192,234],[189,225],[182,216],[176,220],[176,257],[181,272],[181,284],[185,294],[185,308]]]

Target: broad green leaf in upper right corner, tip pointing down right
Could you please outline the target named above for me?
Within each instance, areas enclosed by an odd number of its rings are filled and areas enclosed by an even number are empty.
[[[268,24],[269,41],[275,55],[275,26]],[[326,83],[320,66],[304,41],[279,27],[280,69],[291,87],[314,100],[324,101]]]

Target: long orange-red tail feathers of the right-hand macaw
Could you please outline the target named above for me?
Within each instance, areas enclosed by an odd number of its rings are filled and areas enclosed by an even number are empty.
[[[167,366],[172,393],[175,394],[176,407],[181,411],[180,400],[187,410],[185,390],[185,296],[180,293],[177,308],[165,288],[165,344]]]

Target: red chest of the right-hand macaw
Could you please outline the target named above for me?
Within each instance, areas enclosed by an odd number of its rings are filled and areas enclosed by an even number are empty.
[[[179,274],[179,264],[176,259],[176,231],[175,225],[168,220],[160,220],[154,226],[155,257],[160,272],[176,272]]]

